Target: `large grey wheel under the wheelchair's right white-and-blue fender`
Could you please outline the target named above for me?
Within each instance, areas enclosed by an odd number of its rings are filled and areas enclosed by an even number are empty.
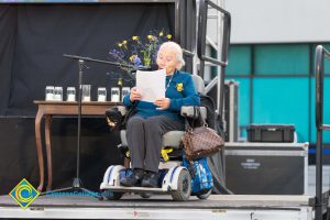
[[[175,201],[186,201],[191,194],[191,177],[187,169],[182,169],[177,180],[177,190],[172,191],[172,198]]]

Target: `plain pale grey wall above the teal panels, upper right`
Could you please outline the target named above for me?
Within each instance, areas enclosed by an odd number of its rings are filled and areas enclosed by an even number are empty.
[[[232,43],[330,42],[330,0],[224,0]]]

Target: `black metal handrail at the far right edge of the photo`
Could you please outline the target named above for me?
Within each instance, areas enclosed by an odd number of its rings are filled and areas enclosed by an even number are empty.
[[[316,128],[317,128],[317,158],[316,158],[316,201],[315,219],[322,219],[322,136],[323,130],[330,130],[330,125],[323,124],[323,80],[324,80],[324,57],[330,59],[330,53],[321,45],[318,45],[315,54],[315,77],[316,77]]]

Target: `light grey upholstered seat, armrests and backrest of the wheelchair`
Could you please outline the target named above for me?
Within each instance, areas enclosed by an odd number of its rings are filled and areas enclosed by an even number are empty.
[[[205,95],[205,85],[204,80],[200,76],[191,75],[195,89],[198,94]],[[180,114],[183,117],[187,117],[189,114],[194,114],[194,110],[189,107],[183,107]],[[201,108],[201,116],[206,119],[206,109]],[[165,147],[173,147],[173,148],[179,148],[180,140],[184,135],[185,131],[169,131],[163,135],[163,142],[162,142],[162,148]],[[121,139],[121,145],[128,146],[127,141],[127,130],[120,131],[120,139]]]

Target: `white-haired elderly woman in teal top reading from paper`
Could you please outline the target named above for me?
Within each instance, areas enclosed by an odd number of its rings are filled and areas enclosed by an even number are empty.
[[[177,43],[162,44],[156,63],[160,69],[166,69],[165,98],[156,99],[154,103],[141,101],[141,92],[132,88],[123,100],[127,107],[138,102],[138,112],[129,119],[127,127],[133,173],[121,179],[123,186],[158,186],[163,134],[184,130],[184,119],[179,114],[183,106],[200,105],[191,76],[179,70],[185,61]]]

